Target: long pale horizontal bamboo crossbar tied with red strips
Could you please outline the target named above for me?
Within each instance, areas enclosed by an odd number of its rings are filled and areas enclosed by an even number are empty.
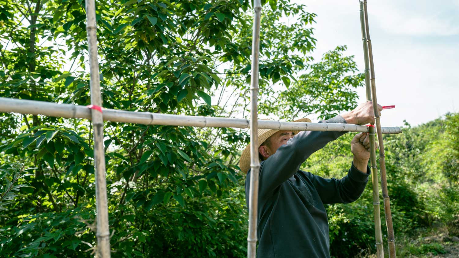
[[[56,104],[46,101],[0,98],[0,112],[20,114],[48,115],[65,118],[91,119],[91,109],[73,104]],[[249,119],[169,115],[151,112],[103,109],[105,121],[134,123],[143,125],[196,126],[196,127],[233,127],[250,128]],[[335,123],[306,123],[258,120],[258,129],[292,131],[334,131],[334,132],[369,132],[368,126]],[[384,134],[401,133],[400,127],[381,127]]]

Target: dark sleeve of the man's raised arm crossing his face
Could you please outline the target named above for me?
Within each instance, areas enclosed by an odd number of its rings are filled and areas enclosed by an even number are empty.
[[[319,123],[346,123],[337,115]],[[283,182],[299,169],[308,157],[323,148],[330,141],[346,132],[302,131],[280,146],[277,151],[260,164],[258,193],[261,198],[271,195]],[[250,181],[250,180],[249,180]]]

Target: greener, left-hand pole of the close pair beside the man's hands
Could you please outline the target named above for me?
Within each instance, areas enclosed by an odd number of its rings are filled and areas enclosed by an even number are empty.
[[[367,40],[365,36],[365,22],[364,22],[364,3],[360,3],[360,27],[362,30],[362,43],[364,46],[364,59],[365,59],[365,89],[367,95],[367,101],[371,101],[371,89],[370,89],[370,75],[369,75],[369,64],[368,64],[368,49]],[[375,123],[371,123],[375,125]],[[376,166],[376,150],[375,150],[375,127],[369,127],[370,136],[370,165],[371,165],[371,182],[373,184],[373,213],[375,220],[375,242],[376,242],[376,255],[378,258],[384,258],[384,248],[382,243],[381,233],[381,211],[379,201],[379,182],[378,182],[378,167]]]

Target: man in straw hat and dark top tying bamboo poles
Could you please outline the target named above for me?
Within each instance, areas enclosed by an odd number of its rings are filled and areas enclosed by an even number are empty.
[[[378,105],[378,113],[382,107]],[[319,123],[364,125],[374,121],[371,101]],[[307,121],[301,119],[297,121]],[[330,258],[325,203],[357,200],[368,181],[369,135],[357,134],[351,142],[353,162],[340,180],[299,170],[300,165],[328,142],[346,132],[258,130],[260,174],[258,188],[258,258]],[[243,151],[241,170],[246,176],[249,206],[250,144]]]

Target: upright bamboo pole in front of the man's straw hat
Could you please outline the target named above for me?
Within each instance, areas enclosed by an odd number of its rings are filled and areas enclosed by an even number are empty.
[[[258,58],[260,50],[260,0],[253,1],[253,34],[252,34],[252,78],[250,86],[250,193],[249,193],[249,232],[247,236],[247,258],[255,258],[257,254],[257,211],[258,211]]]

